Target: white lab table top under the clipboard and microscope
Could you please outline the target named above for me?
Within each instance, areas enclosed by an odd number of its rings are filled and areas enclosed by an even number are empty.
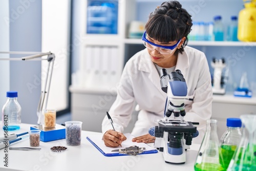
[[[30,124],[22,124],[21,129],[15,133],[30,130]],[[2,130],[1,130],[2,131]],[[12,133],[12,132],[11,132]],[[81,145],[68,146],[66,139],[42,142],[40,151],[16,151],[8,149],[8,168],[11,170],[194,170],[199,144],[192,144],[186,151],[185,164],[165,163],[161,152],[137,156],[105,157],[96,149],[86,137],[100,134],[82,131]],[[1,136],[3,131],[1,132]],[[193,143],[193,142],[192,142]],[[64,152],[52,152],[52,146],[66,146]],[[20,140],[10,145],[11,147],[29,147],[29,138]],[[0,170],[4,166],[4,149],[0,149]]]

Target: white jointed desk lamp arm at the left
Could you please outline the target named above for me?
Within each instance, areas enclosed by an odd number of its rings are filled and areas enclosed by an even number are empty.
[[[0,54],[19,54],[19,55],[29,55],[21,58],[0,58],[0,60],[47,60],[48,61],[48,67],[47,67],[47,75],[46,75],[46,81],[45,81],[45,87],[44,90],[41,91],[41,95],[39,98],[38,106],[37,106],[37,117],[38,121],[37,124],[42,125],[44,123],[44,116],[42,114],[42,109],[47,108],[47,102],[48,102],[48,95],[49,95],[49,89],[51,84],[51,78],[52,78],[52,71],[53,71],[53,64],[55,55],[51,52],[42,53],[42,52],[0,52]],[[42,56],[47,56],[47,58],[42,58]],[[39,58],[40,59],[36,59]]]

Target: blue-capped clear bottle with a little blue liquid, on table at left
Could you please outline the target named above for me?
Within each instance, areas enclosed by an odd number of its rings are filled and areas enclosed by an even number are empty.
[[[17,97],[18,93],[9,91],[6,93],[7,101],[3,106],[2,126],[5,131],[19,130],[21,123],[21,111]]]

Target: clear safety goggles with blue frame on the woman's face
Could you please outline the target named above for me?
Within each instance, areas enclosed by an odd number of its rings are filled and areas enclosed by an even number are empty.
[[[161,46],[161,45],[157,45],[154,44],[153,42],[149,41],[146,39],[146,31],[143,33],[142,35],[142,40],[143,40],[143,45],[153,51],[153,50],[157,50],[160,54],[163,55],[167,55],[167,54],[171,54],[175,51],[176,47],[179,45],[181,39],[173,46]]]

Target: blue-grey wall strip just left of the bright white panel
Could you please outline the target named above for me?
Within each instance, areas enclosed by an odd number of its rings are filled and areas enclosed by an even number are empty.
[[[10,51],[41,51],[41,0],[9,1]],[[11,58],[26,55],[10,55]],[[22,122],[37,123],[40,97],[40,61],[10,61],[10,88],[18,92]]]

